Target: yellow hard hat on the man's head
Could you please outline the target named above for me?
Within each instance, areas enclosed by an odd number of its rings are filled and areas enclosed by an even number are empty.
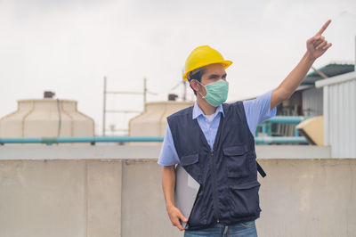
[[[223,60],[222,54],[209,47],[208,45],[198,46],[193,49],[185,61],[184,80],[188,80],[188,73],[194,69],[198,69],[213,63],[223,64],[223,68],[227,69],[232,61]]]

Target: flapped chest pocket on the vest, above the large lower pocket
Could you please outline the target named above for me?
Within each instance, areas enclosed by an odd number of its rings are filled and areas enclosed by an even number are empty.
[[[228,177],[246,177],[249,175],[247,145],[223,148]]]

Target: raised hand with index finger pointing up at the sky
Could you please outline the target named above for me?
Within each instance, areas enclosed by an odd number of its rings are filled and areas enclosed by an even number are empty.
[[[328,41],[325,40],[325,37],[321,36],[325,29],[328,28],[330,22],[331,20],[328,20],[314,37],[311,37],[306,41],[306,48],[312,60],[319,58],[329,47],[331,47],[331,43],[328,43]]]

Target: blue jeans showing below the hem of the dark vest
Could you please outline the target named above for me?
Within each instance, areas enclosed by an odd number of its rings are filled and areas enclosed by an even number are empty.
[[[198,231],[185,231],[184,237],[257,237],[255,221],[238,223],[235,225],[222,225],[220,223]]]

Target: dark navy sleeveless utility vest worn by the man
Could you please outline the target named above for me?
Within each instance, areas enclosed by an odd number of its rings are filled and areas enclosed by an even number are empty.
[[[189,230],[233,225],[260,217],[255,139],[242,102],[223,103],[213,150],[192,119],[193,107],[167,118],[182,167],[200,184]]]

